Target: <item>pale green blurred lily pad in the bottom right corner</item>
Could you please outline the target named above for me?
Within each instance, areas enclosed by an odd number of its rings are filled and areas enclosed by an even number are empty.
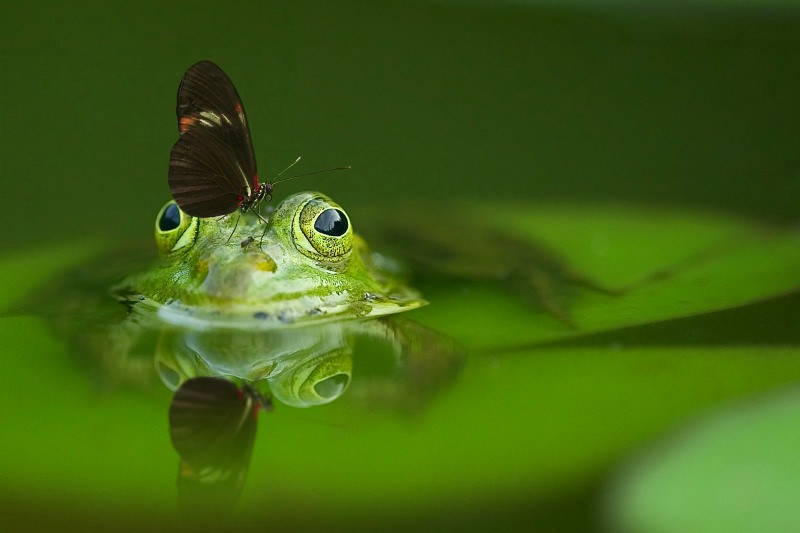
[[[798,531],[800,390],[703,416],[620,469],[614,531]]]

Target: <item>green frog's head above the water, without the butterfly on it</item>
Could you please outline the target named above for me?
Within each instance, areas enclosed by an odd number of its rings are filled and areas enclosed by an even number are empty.
[[[264,222],[266,221],[266,222]],[[161,262],[114,288],[194,327],[273,329],[409,311],[427,302],[401,269],[371,252],[344,209],[319,192],[264,216],[191,217],[174,201],[155,221]]]

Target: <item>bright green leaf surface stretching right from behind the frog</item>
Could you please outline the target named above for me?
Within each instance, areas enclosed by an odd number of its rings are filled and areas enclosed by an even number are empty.
[[[500,282],[421,283],[418,319],[477,350],[508,349],[708,313],[800,288],[800,233],[722,213],[604,205],[485,206],[480,224],[552,250],[616,296],[575,287],[574,326]]]

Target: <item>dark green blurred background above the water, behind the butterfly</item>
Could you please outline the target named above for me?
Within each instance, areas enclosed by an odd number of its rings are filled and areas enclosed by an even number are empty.
[[[652,5],[651,5],[652,4]],[[7,3],[4,246],[141,235],[168,198],[184,70],[212,59],[281,187],[690,204],[800,196],[800,10],[706,2]]]

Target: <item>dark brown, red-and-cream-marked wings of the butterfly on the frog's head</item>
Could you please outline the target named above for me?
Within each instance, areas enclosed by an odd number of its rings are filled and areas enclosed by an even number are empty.
[[[178,131],[169,188],[178,206],[198,217],[236,210],[258,186],[250,127],[239,93],[217,65],[189,67],[178,88]]]

